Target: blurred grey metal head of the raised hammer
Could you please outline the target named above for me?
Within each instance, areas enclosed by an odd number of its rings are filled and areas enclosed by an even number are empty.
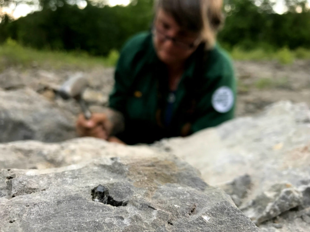
[[[59,89],[59,95],[65,100],[69,98],[79,99],[87,86],[87,79],[82,73],[77,73],[64,82]]]

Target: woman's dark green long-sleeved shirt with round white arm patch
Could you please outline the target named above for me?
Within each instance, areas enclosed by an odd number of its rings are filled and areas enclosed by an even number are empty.
[[[233,118],[236,84],[228,56],[218,47],[206,51],[199,46],[188,58],[175,93],[172,118],[163,126],[167,104],[168,72],[157,58],[152,35],[141,33],[121,51],[109,106],[122,112],[125,131],[118,135],[127,144],[153,143],[214,127]]]

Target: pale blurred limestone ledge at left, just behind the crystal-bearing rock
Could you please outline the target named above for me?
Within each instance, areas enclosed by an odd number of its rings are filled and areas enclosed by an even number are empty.
[[[78,164],[102,156],[156,155],[147,146],[124,146],[90,137],[61,143],[14,141],[0,144],[0,169],[47,169]]]

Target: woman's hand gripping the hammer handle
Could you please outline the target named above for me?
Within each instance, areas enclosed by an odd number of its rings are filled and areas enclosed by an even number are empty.
[[[80,136],[91,136],[108,140],[113,129],[113,123],[106,113],[93,113],[89,120],[83,114],[78,116],[76,130]]]

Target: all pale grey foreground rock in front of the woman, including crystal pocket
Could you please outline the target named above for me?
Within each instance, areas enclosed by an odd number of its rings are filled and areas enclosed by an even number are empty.
[[[0,231],[308,232],[309,147],[287,101],[151,146],[2,143]]]

